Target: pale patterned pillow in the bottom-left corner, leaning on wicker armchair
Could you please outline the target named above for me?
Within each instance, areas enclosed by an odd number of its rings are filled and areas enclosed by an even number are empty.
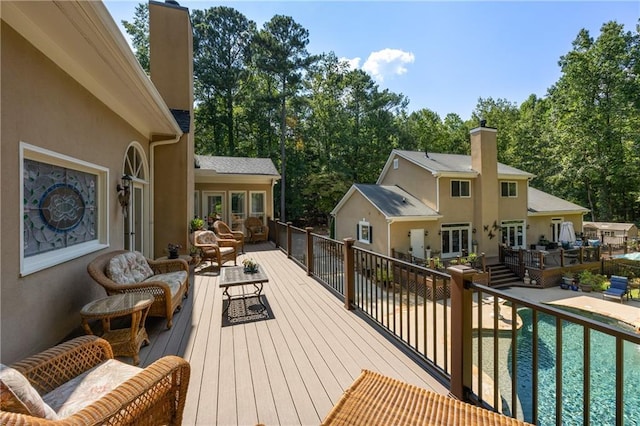
[[[0,409],[49,420],[58,415],[19,371],[0,364]]]

